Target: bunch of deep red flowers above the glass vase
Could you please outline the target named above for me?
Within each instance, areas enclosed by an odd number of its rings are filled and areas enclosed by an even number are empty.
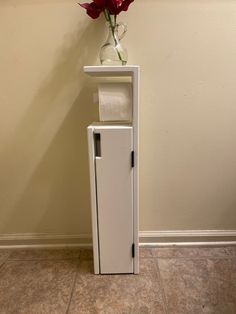
[[[93,0],[91,3],[79,5],[87,10],[87,14],[96,19],[105,9],[112,15],[118,15],[121,11],[127,11],[131,2],[134,0]]]

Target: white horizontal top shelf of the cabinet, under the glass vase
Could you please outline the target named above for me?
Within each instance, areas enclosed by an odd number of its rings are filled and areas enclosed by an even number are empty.
[[[84,66],[84,72],[91,76],[134,76],[138,71],[138,65]]]

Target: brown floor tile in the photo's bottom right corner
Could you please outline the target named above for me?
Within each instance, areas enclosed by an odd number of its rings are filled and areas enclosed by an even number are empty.
[[[233,259],[156,259],[169,314],[235,314]]]

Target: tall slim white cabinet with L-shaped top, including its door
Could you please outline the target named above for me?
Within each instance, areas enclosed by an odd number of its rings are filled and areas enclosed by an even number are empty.
[[[95,78],[132,83],[130,124],[88,127],[95,274],[139,273],[139,66],[86,66]]]

